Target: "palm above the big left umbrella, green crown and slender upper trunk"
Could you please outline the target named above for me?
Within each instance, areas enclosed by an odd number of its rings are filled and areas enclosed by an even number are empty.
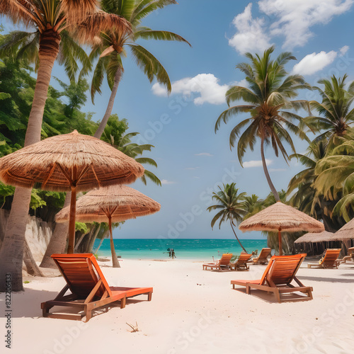
[[[147,75],[150,82],[156,79],[159,83],[166,86],[167,91],[171,92],[171,82],[164,67],[151,52],[142,47],[142,45],[136,43],[136,41],[140,39],[177,40],[188,43],[187,40],[180,35],[176,35],[176,33],[171,33],[165,30],[152,30],[141,25],[142,19],[150,13],[170,4],[177,4],[177,2],[175,0],[101,1],[103,11],[115,13],[115,15],[122,16],[130,22],[132,25],[132,33],[121,33],[117,30],[105,31],[101,33],[102,42],[93,47],[93,51],[91,52],[91,60],[100,56],[96,69],[93,72],[91,84],[92,101],[96,92],[101,93],[100,88],[104,74],[106,74],[108,85],[112,90],[107,110],[105,111],[101,124],[94,135],[95,137],[101,137],[108,118],[110,118],[110,114],[112,113],[115,95],[120,80],[122,79],[122,56],[126,55],[126,48],[130,49],[132,59],[135,59],[138,67],[144,71],[144,74]]]

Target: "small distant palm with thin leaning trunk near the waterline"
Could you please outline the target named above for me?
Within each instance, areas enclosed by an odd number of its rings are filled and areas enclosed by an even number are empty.
[[[234,224],[234,221],[241,222],[247,212],[246,205],[244,202],[246,192],[238,194],[239,188],[235,188],[235,185],[236,183],[223,185],[224,189],[220,188],[220,186],[218,185],[219,192],[212,193],[212,199],[216,200],[217,204],[208,207],[207,211],[211,212],[212,210],[219,210],[219,212],[217,212],[217,215],[212,218],[212,228],[214,227],[215,222],[217,222],[218,219],[220,219],[219,229],[223,222],[229,220],[232,232],[234,232],[236,240],[239,241],[241,248],[244,250],[244,252],[247,253],[246,249],[244,249],[244,246],[242,246],[241,241],[237,237],[236,232],[234,230],[234,226],[236,226]]]

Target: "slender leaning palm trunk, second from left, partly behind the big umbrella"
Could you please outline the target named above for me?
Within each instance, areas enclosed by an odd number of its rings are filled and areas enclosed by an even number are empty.
[[[112,92],[110,93],[110,99],[108,101],[107,109],[105,110],[105,115],[103,116],[100,125],[98,126],[95,134],[93,135],[97,139],[101,139],[103,131],[105,130],[105,125],[107,125],[108,119],[110,118],[110,114],[112,113],[113,103],[115,100],[115,95],[117,94],[118,86],[120,84],[120,79],[122,79],[122,68],[118,67],[118,70],[115,73],[114,84],[113,84]],[[67,193],[64,202],[64,207],[69,205],[70,196],[71,193]],[[69,222],[61,222],[55,225],[55,229],[52,234],[52,237],[50,238],[50,243],[48,244],[47,251],[45,251],[45,255],[43,256],[42,263],[40,263],[41,267],[57,268],[55,262],[52,260],[50,255],[52,255],[52,253],[64,253],[65,246],[67,244],[68,228],[69,228]]]

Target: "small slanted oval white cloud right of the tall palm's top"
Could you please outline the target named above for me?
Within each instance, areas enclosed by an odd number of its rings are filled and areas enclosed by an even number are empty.
[[[304,57],[292,69],[293,74],[311,75],[331,64],[337,57],[337,52],[312,53]]]

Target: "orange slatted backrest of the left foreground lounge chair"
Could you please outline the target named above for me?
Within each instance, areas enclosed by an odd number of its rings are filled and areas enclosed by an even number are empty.
[[[71,292],[79,298],[87,297],[96,286],[99,279],[102,280],[96,295],[102,296],[105,290],[112,295],[108,282],[92,253],[52,254],[51,256]]]

